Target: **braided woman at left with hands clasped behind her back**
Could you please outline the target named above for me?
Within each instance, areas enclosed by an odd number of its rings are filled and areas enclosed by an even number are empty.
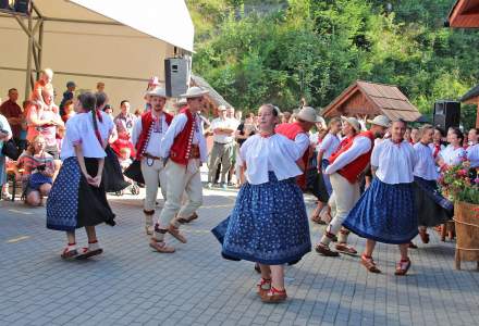
[[[96,98],[91,92],[78,97],[78,114],[66,123],[61,158],[63,165],[47,201],[47,228],[66,231],[63,259],[85,259],[100,254],[95,226],[113,226],[114,214],[107,201],[101,175],[105,164],[102,136],[99,129]],[[77,250],[75,229],[85,227],[88,247]]]

